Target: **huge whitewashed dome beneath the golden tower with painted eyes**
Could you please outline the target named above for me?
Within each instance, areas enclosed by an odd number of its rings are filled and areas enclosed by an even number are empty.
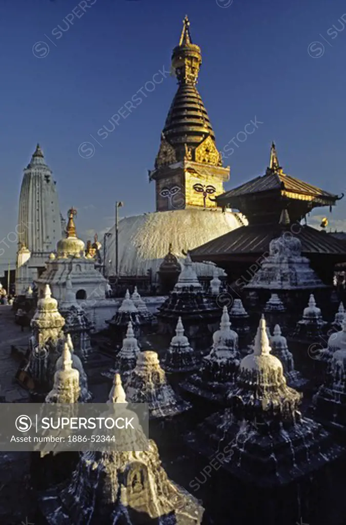
[[[207,243],[247,224],[240,213],[219,209],[190,208],[167,212],[144,213],[125,217],[119,221],[119,273],[120,275],[147,275],[153,278],[172,244],[179,257],[197,246]],[[114,266],[114,227],[107,242],[106,260]],[[214,265],[196,263],[197,275],[213,277]],[[223,275],[220,272],[220,275]]]

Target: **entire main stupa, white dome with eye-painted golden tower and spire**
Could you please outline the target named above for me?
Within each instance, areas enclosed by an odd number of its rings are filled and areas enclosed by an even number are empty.
[[[179,257],[209,240],[247,224],[240,213],[222,211],[215,197],[224,192],[229,166],[223,167],[215,135],[200,93],[196,89],[202,55],[192,43],[185,17],[179,45],[173,49],[172,69],[178,89],[171,104],[154,170],[156,212],[125,217],[119,222],[119,275],[157,280],[157,271],[169,245]],[[106,261],[113,260],[113,234]],[[113,264],[113,263],[112,263]],[[213,276],[213,266],[196,264],[197,275]],[[108,272],[114,272],[109,267]]]

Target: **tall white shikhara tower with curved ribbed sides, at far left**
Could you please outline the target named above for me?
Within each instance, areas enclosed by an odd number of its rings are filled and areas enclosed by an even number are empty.
[[[17,230],[16,293],[22,293],[45,268],[62,235],[55,181],[39,144],[24,170]]]

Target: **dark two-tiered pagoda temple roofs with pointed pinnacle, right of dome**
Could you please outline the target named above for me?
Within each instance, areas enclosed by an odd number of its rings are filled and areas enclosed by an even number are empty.
[[[346,258],[346,245],[300,221],[316,207],[331,209],[342,196],[286,175],[273,143],[264,175],[216,197],[219,206],[239,209],[249,224],[192,249],[191,257],[194,261],[215,262],[226,270],[230,280],[236,280],[244,275],[246,267],[268,255],[272,239],[289,232],[300,240],[302,255],[308,257],[312,269],[330,284],[334,265]]]

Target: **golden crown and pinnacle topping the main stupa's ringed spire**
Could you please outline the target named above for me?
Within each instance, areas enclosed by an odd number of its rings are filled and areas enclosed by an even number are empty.
[[[189,27],[190,22],[185,16],[179,46],[173,49],[172,68],[175,69],[175,75],[180,85],[189,84],[194,86],[202,64],[202,55],[201,49],[192,44]]]

